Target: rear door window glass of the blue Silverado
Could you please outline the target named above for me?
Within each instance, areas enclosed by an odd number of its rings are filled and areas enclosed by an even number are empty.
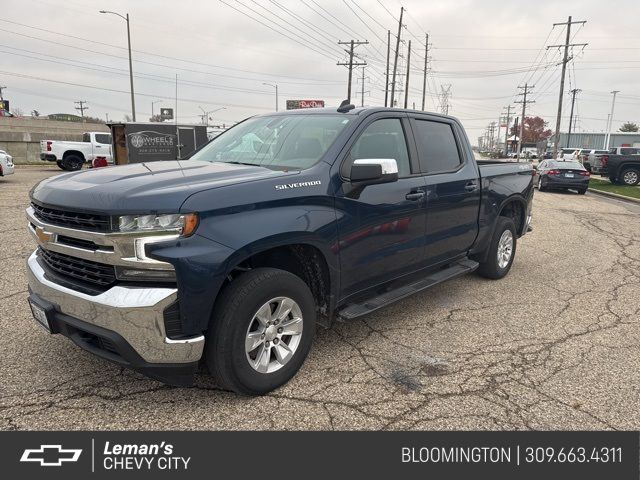
[[[460,152],[448,123],[417,120],[416,144],[423,173],[449,172],[462,163]]]

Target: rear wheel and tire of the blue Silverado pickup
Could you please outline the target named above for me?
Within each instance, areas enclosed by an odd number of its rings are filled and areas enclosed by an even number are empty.
[[[516,225],[513,220],[508,217],[498,217],[489,243],[487,259],[478,268],[481,276],[497,280],[509,273],[516,255],[516,237]]]

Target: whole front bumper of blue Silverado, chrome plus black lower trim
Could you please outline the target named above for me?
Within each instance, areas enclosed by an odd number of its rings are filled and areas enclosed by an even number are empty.
[[[49,280],[37,252],[29,257],[27,266],[30,299],[49,308],[53,333],[62,333],[92,353],[155,378],[159,376],[145,368],[171,370],[182,366],[195,370],[202,357],[204,336],[173,340],[165,332],[163,311],[177,299],[175,288],[116,285],[98,295],[88,295]],[[120,358],[87,348],[86,342],[78,341],[81,335],[77,330],[106,335],[116,344]]]

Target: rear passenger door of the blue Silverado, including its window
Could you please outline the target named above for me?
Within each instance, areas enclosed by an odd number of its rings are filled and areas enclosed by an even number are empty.
[[[478,234],[480,180],[467,140],[446,118],[414,115],[411,125],[427,184],[426,261],[433,265],[467,252]]]

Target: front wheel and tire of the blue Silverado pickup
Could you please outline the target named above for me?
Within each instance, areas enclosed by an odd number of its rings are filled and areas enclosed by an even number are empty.
[[[262,395],[300,369],[315,333],[316,305],[300,277],[256,268],[237,277],[214,307],[205,359],[222,388]]]

